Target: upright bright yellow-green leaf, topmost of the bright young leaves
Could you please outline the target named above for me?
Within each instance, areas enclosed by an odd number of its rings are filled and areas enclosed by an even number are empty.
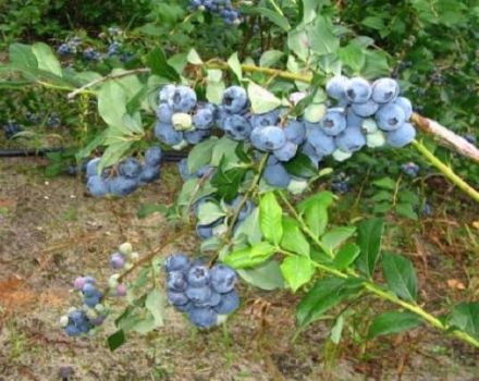
[[[283,210],[273,192],[267,193],[259,202],[259,221],[265,238],[279,245],[283,237]]]

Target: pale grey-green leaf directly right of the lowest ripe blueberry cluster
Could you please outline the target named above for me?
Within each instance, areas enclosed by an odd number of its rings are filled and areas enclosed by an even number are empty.
[[[240,269],[237,272],[247,283],[261,290],[272,291],[284,288],[284,279],[281,273],[281,268],[275,260],[270,260],[254,269]]]

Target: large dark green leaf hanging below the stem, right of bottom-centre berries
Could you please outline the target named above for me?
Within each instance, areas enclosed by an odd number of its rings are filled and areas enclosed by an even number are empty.
[[[346,286],[346,281],[337,278],[319,280],[305,295],[296,309],[299,327],[318,320],[326,311],[357,293],[359,286]]]

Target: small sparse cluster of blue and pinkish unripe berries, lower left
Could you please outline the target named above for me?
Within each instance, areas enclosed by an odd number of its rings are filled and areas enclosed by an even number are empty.
[[[121,269],[126,265],[126,258],[136,260],[138,255],[133,251],[130,243],[120,245],[118,253],[110,258],[113,269]],[[119,274],[113,274],[109,280],[109,291],[112,296],[125,296],[126,286],[118,282]],[[90,275],[78,276],[73,287],[82,295],[83,306],[72,307],[69,314],[60,318],[60,325],[69,336],[78,336],[88,333],[94,328],[101,325],[108,316],[108,308],[101,304],[103,294],[97,286],[95,278]]]

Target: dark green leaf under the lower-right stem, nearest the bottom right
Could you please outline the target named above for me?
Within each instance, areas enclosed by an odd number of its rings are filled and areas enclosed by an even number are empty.
[[[394,334],[412,330],[422,323],[422,320],[408,311],[388,311],[376,317],[369,327],[368,336],[374,339],[384,334]]]

